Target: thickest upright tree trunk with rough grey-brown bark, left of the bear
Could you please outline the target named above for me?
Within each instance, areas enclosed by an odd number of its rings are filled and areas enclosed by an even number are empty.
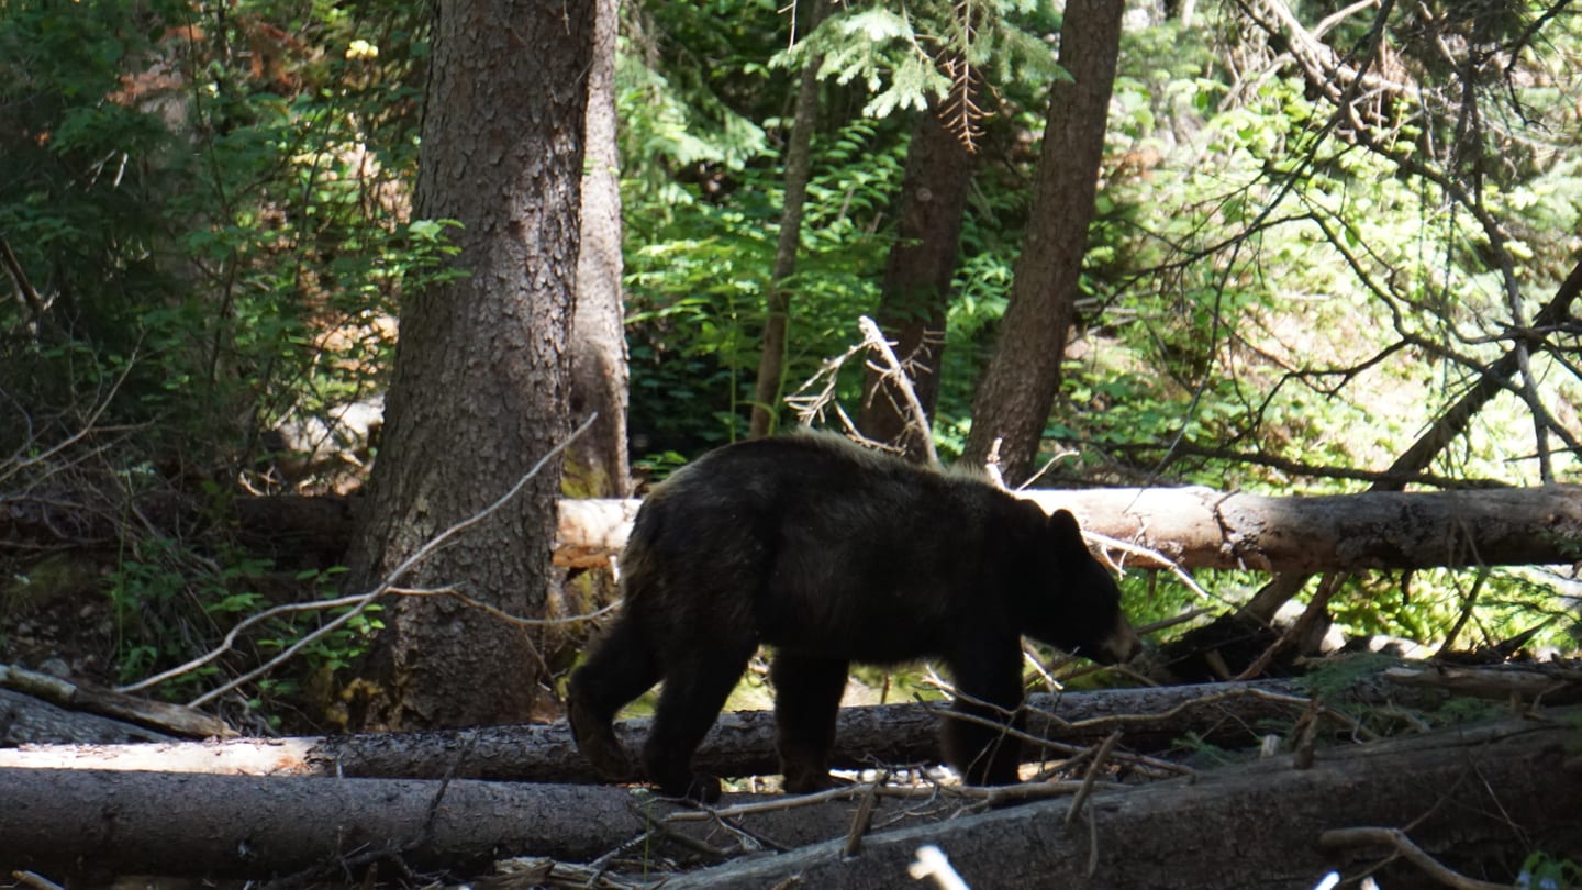
[[[364,586],[501,497],[566,435],[593,8],[457,0],[437,10],[414,215],[462,222],[454,241],[465,277],[402,309],[383,448],[353,551]],[[402,583],[456,586],[538,614],[558,489],[558,467],[546,467]],[[532,714],[538,659],[520,629],[446,597],[396,600],[381,619],[356,725]]]

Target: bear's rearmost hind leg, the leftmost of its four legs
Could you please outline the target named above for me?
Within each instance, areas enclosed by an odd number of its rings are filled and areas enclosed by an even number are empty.
[[[622,614],[593,654],[571,671],[566,721],[577,751],[609,781],[634,778],[631,759],[615,738],[615,711],[660,681],[660,662],[642,627]]]

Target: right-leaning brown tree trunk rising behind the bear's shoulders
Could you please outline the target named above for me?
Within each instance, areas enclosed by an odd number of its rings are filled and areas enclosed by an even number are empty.
[[[1060,29],[1060,65],[1073,79],[1050,89],[1033,212],[995,353],[973,399],[973,431],[963,451],[968,462],[982,466],[993,442],[1001,439],[1000,466],[1011,485],[1031,472],[1060,391],[1060,361],[1081,291],[1123,6],[1122,0],[1071,0]]]

